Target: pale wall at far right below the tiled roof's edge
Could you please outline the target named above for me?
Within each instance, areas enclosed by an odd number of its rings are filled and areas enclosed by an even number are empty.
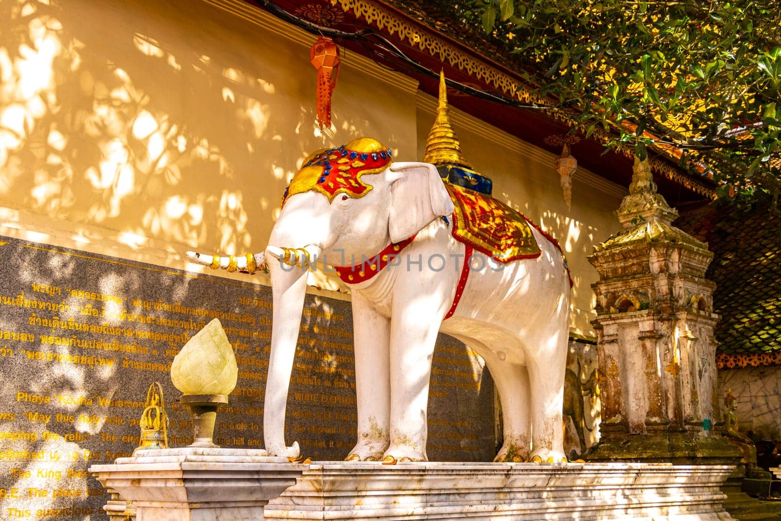
[[[740,431],[753,430],[766,440],[781,440],[781,367],[760,366],[719,370],[719,407],[731,390]]]

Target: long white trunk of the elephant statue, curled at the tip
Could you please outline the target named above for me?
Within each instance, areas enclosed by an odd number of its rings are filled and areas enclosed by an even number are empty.
[[[263,405],[263,438],[270,455],[297,458],[298,443],[285,445],[285,409],[306,294],[306,264],[316,262],[319,248],[266,248],[273,294],[271,356]],[[273,262],[279,259],[280,262]]]

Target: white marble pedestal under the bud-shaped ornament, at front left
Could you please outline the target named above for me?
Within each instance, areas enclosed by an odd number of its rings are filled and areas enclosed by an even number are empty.
[[[262,450],[188,447],[138,451],[90,472],[132,502],[137,521],[258,521],[305,469]]]

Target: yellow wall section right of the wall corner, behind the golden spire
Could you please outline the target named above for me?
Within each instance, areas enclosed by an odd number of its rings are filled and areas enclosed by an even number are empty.
[[[423,157],[426,149],[436,106],[434,98],[419,92],[418,157]],[[568,210],[554,170],[555,155],[457,109],[451,109],[451,120],[465,158],[494,181],[494,197],[522,212],[562,244],[574,282],[570,330],[593,337],[591,284],[598,277],[586,257],[594,244],[619,229],[613,212],[626,189],[579,169],[572,178],[572,209]]]

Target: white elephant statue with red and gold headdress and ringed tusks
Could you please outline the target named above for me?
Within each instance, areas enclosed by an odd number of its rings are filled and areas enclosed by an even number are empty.
[[[358,441],[349,461],[427,461],[426,409],[440,331],[477,351],[494,378],[504,418],[496,460],[566,461],[570,281],[558,244],[501,202],[445,183],[429,163],[393,162],[373,139],[310,157],[285,191],[265,252],[188,253],[202,264],[249,272],[267,259],[273,329],[266,450],[298,456],[298,444],[284,441],[285,409],[307,265],[319,258],[351,289]],[[458,237],[469,219],[489,234],[473,235],[471,243]],[[488,255],[490,234],[501,235],[508,250]]]

